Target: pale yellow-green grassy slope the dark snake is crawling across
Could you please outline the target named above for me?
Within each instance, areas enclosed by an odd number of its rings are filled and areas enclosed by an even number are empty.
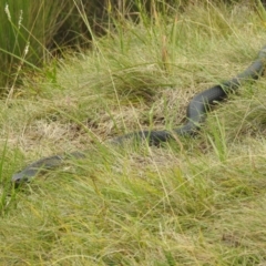
[[[1,265],[266,263],[265,79],[212,112],[195,140],[100,144],[182,124],[193,94],[244,70],[265,44],[244,7],[167,20],[124,22],[0,103]],[[20,166],[76,149],[92,152],[7,196]]]

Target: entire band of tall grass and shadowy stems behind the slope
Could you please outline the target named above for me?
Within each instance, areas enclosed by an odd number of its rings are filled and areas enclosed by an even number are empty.
[[[92,34],[105,34],[115,27],[114,17],[137,21],[140,16],[144,18],[145,14],[156,19],[156,10],[166,16],[173,13],[175,8],[184,9],[191,2],[195,3],[190,0],[1,1],[0,94],[11,95],[16,84],[20,84],[22,65],[34,72],[58,54],[55,51],[60,50],[61,53],[65,47],[88,48]],[[88,31],[88,23],[76,8],[83,9],[93,33]]]

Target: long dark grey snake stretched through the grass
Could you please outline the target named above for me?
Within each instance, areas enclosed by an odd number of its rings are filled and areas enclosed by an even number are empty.
[[[171,132],[166,130],[136,131],[121,136],[111,139],[111,143],[119,145],[130,139],[147,141],[149,145],[160,146],[161,143],[176,140],[176,136],[195,136],[206,119],[207,112],[216,103],[225,100],[229,93],[236,91],[244,81],[257,80],[263,75],[266,62],[266,45],[263,47],[257,55],[257,59],[243,72],[235,75],[231,80],[221,82],[205,91],[197,93],[188,103],[186,109],[186,122],[183,126],[173,129]],[[55,154],[49,157],[43,157],[25,166],[20,172],[12,175],[11,182],[20,185],[24,182],[30,182],[40,172],[54,168],[62,165],[65,160],[83,158],[85,152],[72,152],[69,154]]]

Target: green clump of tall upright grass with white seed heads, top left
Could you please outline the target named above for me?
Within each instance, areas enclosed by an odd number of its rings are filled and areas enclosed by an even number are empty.
[[[49,58],[47,50],[68,13],[62,13],[65,2],[1,1],[0,88],[2,93],[18,81],[21,66],[31,71]],[[28,51],[28,52],[27,52]]]

